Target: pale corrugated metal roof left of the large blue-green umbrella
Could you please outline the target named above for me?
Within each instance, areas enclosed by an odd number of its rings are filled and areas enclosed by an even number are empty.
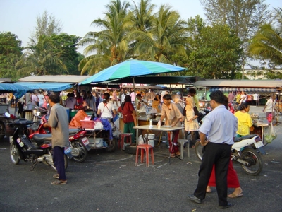
[[[27,76],[20,78],[18,81],[28,82],[56,82],[56,83],[80,83],[90,76],[81,75],[42,75],[42,76]]]

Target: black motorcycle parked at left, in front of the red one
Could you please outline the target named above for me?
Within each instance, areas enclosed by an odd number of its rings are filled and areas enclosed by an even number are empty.
[[[32,162],[30,171],[35,169],[37,163],[44,163],[50,165],[54,170],[56,167],[52,158],[52,144],[51,135],[37,134],[33,136],[33,141],[30,141],[28,134],[28,126],[35,122],[28,121],[27,119],[18,119],[13,123],[8,124],[6,135],[12,136],[10,145],[10,155],[13,164],[18,165],[20,160],[25,162]],[[65,151],[66,153],[66,151]],[[68,157],[64,155],[65,169],[68,167]]]

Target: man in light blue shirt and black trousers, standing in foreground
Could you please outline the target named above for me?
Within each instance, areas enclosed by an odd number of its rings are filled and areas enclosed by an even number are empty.
[[[204,154],[200,165],[198,184],[194,194],[188,195],[188,198],[196,203],[202,203],[214,165],[219,207],[228,208],[231,204],[227,201],[227,171],[238,121],[223,105],[225,96],[220,90],[212,92],[209,97],[213,111],[207,114],[199,129],[200,143],[204,146]]]

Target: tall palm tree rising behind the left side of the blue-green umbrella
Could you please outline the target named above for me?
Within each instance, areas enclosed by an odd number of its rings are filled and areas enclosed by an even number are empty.
[[[82,46],[88,45],[85,55],[95,53],[80,61],[78,69],[81,74],[88,72],[92,75],[125,60],[128,52],[126,16],[129,6],[128,2],[111,1],[106,5],[108,11],[105,17],[92,22],[92,25],[102,30],[87,33],[79,43]]]

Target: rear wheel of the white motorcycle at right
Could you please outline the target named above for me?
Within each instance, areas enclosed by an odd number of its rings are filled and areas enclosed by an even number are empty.
[[[262,172],[262,157],[255,151],[255,149],[252,148],[245,148],[241,152],[241,159],[247,161],[250,165],[243,165],[244,172],[247,173],[247,175],[259,175],[260,172]]]

